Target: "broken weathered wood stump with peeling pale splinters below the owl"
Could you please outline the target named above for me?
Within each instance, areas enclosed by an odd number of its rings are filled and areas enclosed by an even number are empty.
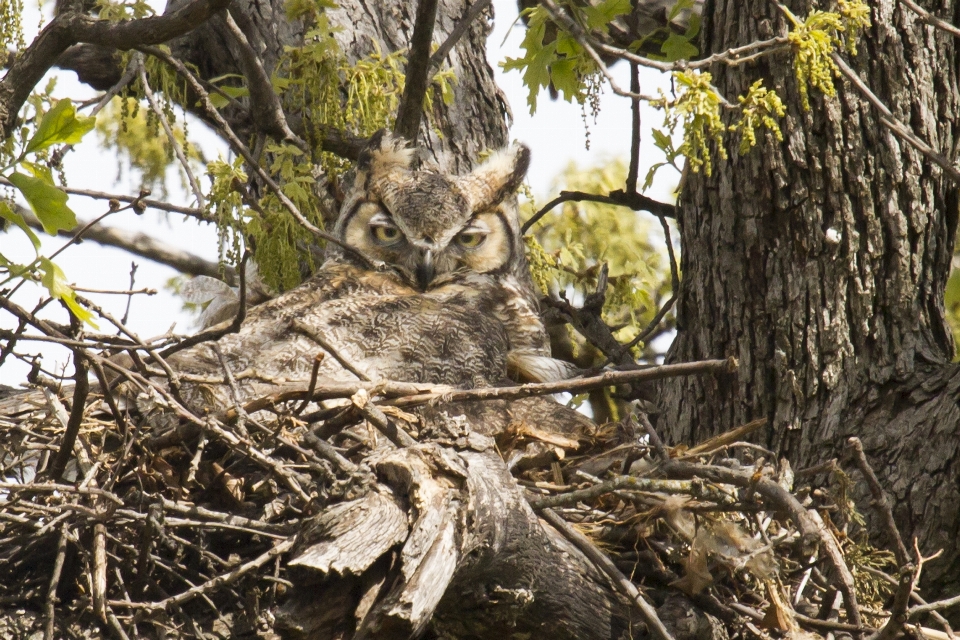
[[[629,603],[536,517],[492,441],[472,442],[482,450],[423,444],[371,460],[389,489],[321,515],[311,531],[323,540],[291,565],[325,574],[324,593],[349,591],[357,576],[385,585],[363,607],[360,590],[353,591],[354,610],[365,612],[354,617],[361,638],[417,637],[431,620],[448,637],[621,637],[631,623]],[[398,524],[390,492],[407,505],[409,533]],[[381,543],[401,533],[387,552]],[[382,550],[379,563],[369,553],[374,548]],[[311,577],[302,581],[281,613],[283,631],[337,637],[316,620],[328,612],[313,612]]]

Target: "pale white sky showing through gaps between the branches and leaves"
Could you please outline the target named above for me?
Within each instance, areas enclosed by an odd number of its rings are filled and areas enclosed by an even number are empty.
[[[581,166],[601,164],[612,158],[627,159],[630,153],[630,102],[627,99],[613,95],[607,90],[601,100],[601,113],[596,122],[590,118],[591,149],[584,148],[584,129],[581,119],[580,106],[568,104],[562,100],[551,101],[549,95],[541,94],[538,101],[538,111],[530,116],[526,104],[526,88],[521,83],[521,76],[517,72],[502,73],[498,62],[506,57],[517,57],[521,54],[519,48],[523,38],[522,25],[517,23],[512,29],[517,17],[516,3],[513,0],[495,0],[496,28],[488,43],[488,56],[491,65],[497,74],[497,81],[513,111],[513,124],[510,130],[511,138],[527,144],[532,151],[532,164],[528,175],[528,182],[536,195],[538,202],[546,202],[556,195],[553,182],[555,177],[570,163],[576,162]],[[34,8],[28,11],[24,24],[36,25],[38,14]],[[28,33],[28,42],[33,34]],[[501,45],[501,42],[503,43]],[[621,63],[613,68],[618,76],[620,86],[629,86],[627,67]],[[81,85],[73,73],[58,73],[57,95],[69,96],[75,101],[90,98],[95,92]],[[41,86],[46,82],[42,81]],[[664,76],[656,72],[646,72],[641,75],[642,93],[655,94],[658,87],[666,90],[668,82]],[[644,126],[659,126],[662,115],[652,109],[645,108],[643,115]],[[208,159],[218,155],[219,145],[215,136],[202,131],[203,125],[193,123],[190,126],[191,137],[203,147]],[[649,136],[645,136],[641,146],[640,176],[653,163],[662,160],[662,154],[653,147]],[[64,161],[64,170],[70,180],[70,186],[135,195],[138,185],[130,180],[129,172],[120,171],[117,158],[99,147],[97,136],[88,134],[77,149],[68,154]],[[118,173],[122,174],[117,181]],[[667,170],[658,177],[657,184],[647,195],[669,200],[670,191],[676,184],[677,177],[670,175]],[[169,201],[176,204],[192,204],[192,196],[180,190],[180,180],[174,177],[169,180]],[[103,214],[106,203],[89,198],[72,196],[69,206],[77,213],[78,218],[89,220]],[[217,257],[216,233],[209,225],[200,225],[194,221],[185,220],[175,214],[149,210],[143,216],[136,216],[132,212],[122,212],[110,216],[105,224],[141,231],[160,240],[178,246],[182,249],[215,260]],[[43,255],[50,255],[65,242],[64,239],[43,236]],[[10,259],[20,262],[29,262],[33,259],[33,251],[23,234],[19,231],[0,234],[0,244],[3,252]],[[165,286],[167,281],[177,273],[166,266],[149,260],[132,256],[119,249],[103,247],[93,242],[84,242],[66,250],[56,258],[56,262],[66,273],[70,282],[77,286],[91,289],[125,290],[129,287],[129,273],[131,262],[138,265],[136,274],[136,288],[149,287],[158,290],[154,296],[134,296],[128,326],[141,338],[150,338],[165,333],[175,325],[178,333],[194,331],[193,318],[184,313],[182,301],[172,295]],[[14,295],[14,300],[26,308],[32,308],[45,292],[38,286],[25,284]],[[125,296],[83,294],[93,299],[110,313],[120,318],[124,313],[127,299]],[[66,313],[57,305],[50,305],[45,312],[59,322],[66,322]],[[14,329],[15,323],[6,312],[0,312],[0,327]],[[101,325],[107,330],[108,326]],[[56,346],[45,343],[20,343],[18,351],[27,353],[42,353],[44,367],[49,370],[58,370],[63,363],[69,361],[69,354]],[[19,384],[25,379],[29,367],[13,358],[0,367],[0,383],[9,385]],[[69,371],[68,371],[69,372]]]

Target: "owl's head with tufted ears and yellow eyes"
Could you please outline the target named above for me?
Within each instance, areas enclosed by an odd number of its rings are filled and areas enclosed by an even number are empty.
[[[337,235],[426,291],[464,273],[525,269],[514,194],[530,151],[514,145],[471,173],[413,168],[404,139],[380,132],[357,162]]]

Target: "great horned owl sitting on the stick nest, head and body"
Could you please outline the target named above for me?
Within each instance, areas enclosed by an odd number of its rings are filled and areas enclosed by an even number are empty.
[[[465,176],[413,168],[413,152],[389,134],[374,137],[347,192],[336,235],[383,268],[331,245],[309,281],[250,310],[240,331],[217,344],[246,398],[278,382],[319,373],[352,379],[338,360],[372,380],[476,387],[566,373],[549,357],[522,240],[514,191],[529,160],[520,145]],[[176,369],[222,376],[209,344],[175,355]],[[558,373],[559,372],[559,373]],[[222,384],[187,384],[196,408],[230,406]]]

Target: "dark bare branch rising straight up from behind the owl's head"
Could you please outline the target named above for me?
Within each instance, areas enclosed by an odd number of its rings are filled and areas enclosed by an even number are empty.
[[[417,0],[417,17],[413,24],[413,35],[410,36],[407,79],[393,131],[411,142],[416,142],[420,133],[423,98],[427,94],[431,69],[430,45],[437,22],[437,4],[438,0]]]

